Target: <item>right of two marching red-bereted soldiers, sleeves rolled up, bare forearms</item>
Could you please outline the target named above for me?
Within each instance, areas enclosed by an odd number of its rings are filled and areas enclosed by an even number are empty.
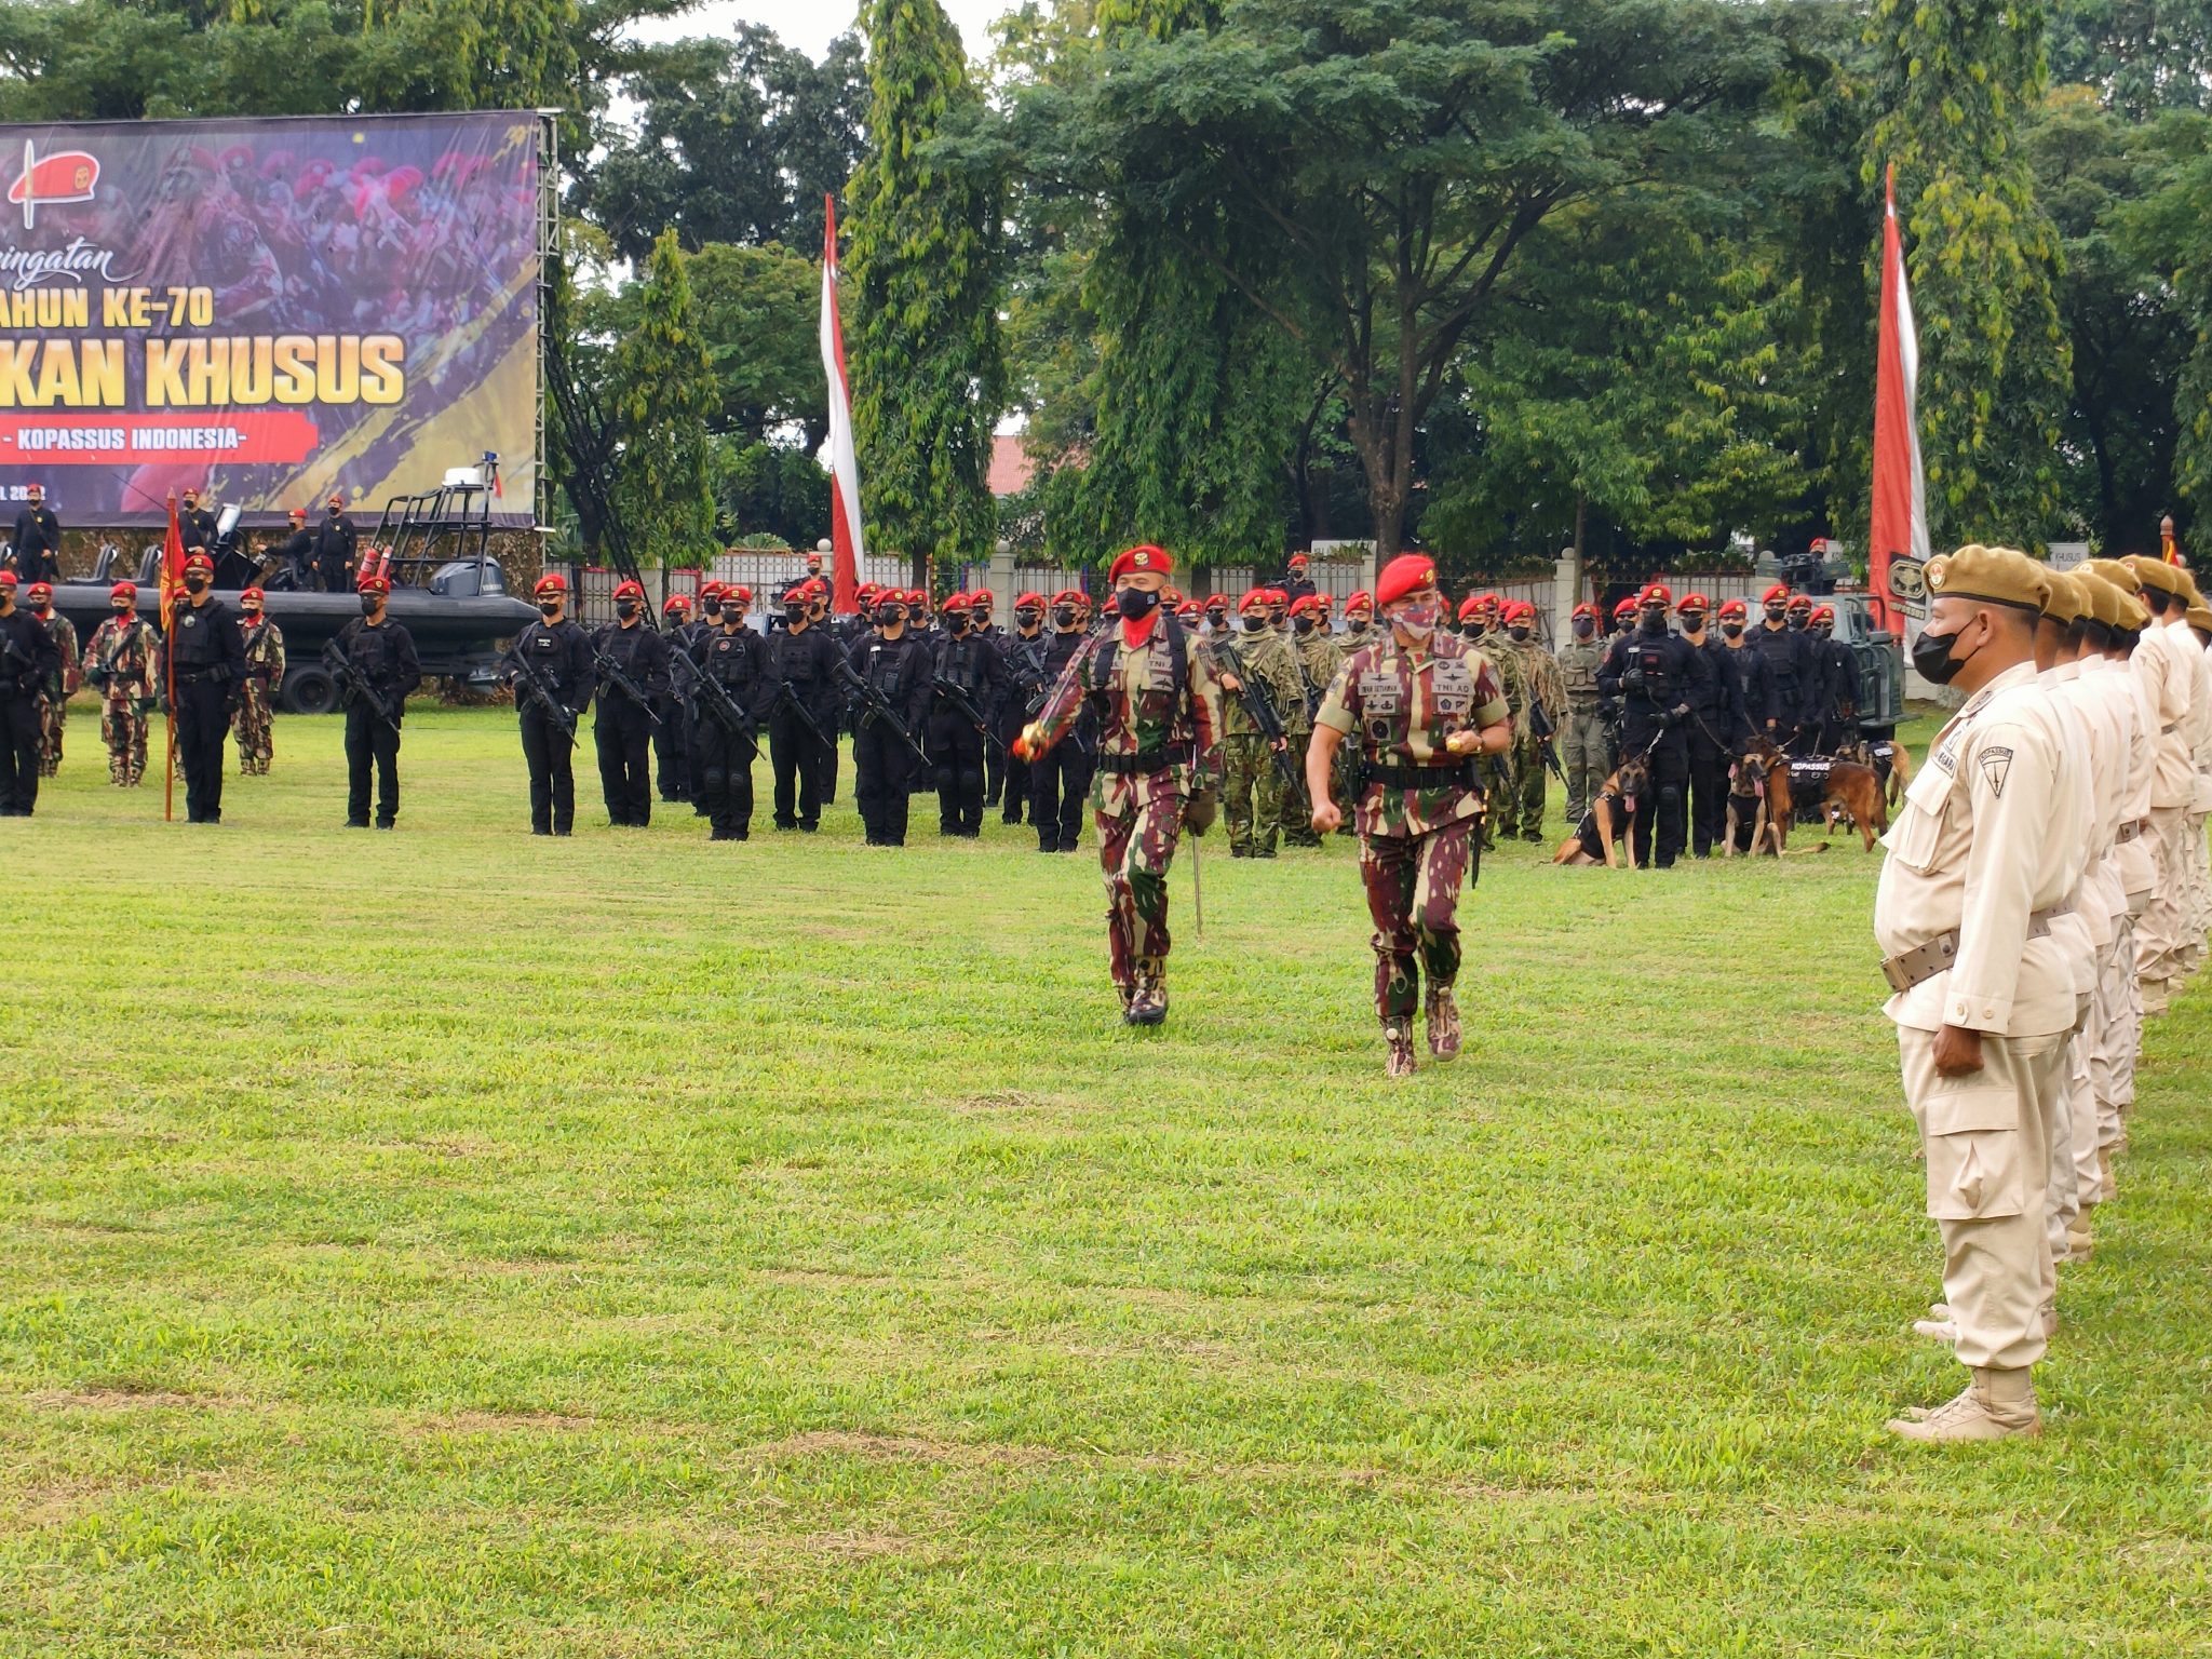
[[[1429,975],[1429,1053],[1460,1053],[1460,883],[1482,814],[1475,757],[1511,743],[1504,695],[1480,650],[1440,630],[1436,564],[1405,553],[1383,568],[1376,604],[1389,633],[1354,650],[1321,701],[1305,783],[1314,827],[1336,830],[1329,768],[1347,737],[1360,745],[1356,810],[1360,883],[1374,918],[1376,1015],[1385,1068],[1413,1075],[1413,1009]]]

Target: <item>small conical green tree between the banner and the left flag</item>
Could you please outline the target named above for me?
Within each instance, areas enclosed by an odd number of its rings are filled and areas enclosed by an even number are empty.
[[[714,372],[692,305],[677,232],[653,243],[637,327],[613,363],[613,409],[622,434],[613,498],[639,564],[695,564],[712,544],[708,420]]]

